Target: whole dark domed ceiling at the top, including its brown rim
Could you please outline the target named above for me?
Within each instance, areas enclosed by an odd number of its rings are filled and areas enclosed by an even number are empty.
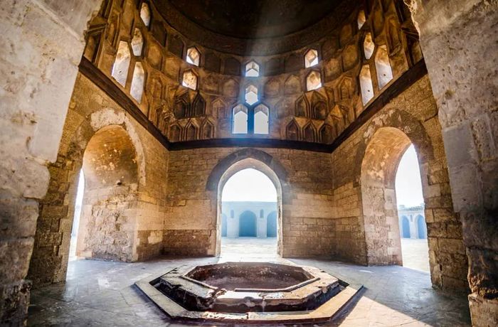
[[[236,55],[272,55],[318,41],[346,18],[351,0],[153,0],[183,36]]]

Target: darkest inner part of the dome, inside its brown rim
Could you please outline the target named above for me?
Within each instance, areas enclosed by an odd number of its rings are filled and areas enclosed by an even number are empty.
[[[235,38],[273,38],[307,28],[339,0],[169,0],[199,26]]]

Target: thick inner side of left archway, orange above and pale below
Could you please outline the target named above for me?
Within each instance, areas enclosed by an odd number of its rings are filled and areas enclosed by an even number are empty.
[[[126,130],[119,125],[99,129],[86,146],[82,170],[85,192],[76,255],[132,261],[135,217],[127,209],[138,197],[138,166]]]

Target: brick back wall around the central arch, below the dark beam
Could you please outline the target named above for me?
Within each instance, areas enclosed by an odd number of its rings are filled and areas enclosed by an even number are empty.
[[[285,168],[282,186],[282,255],[328,255],[334,238],[332,166],[329,154],[290,149],[216,148],[171,151],[164,221],[166,254],[215,255],[217,251],[217,190],[208,190],[213,168],[239,151],[270,155]],[[219,181],[219,179],[218,179]],[[218,183],[216,181],[216,184]],[[219,236],[218,236],[219,237]]]

